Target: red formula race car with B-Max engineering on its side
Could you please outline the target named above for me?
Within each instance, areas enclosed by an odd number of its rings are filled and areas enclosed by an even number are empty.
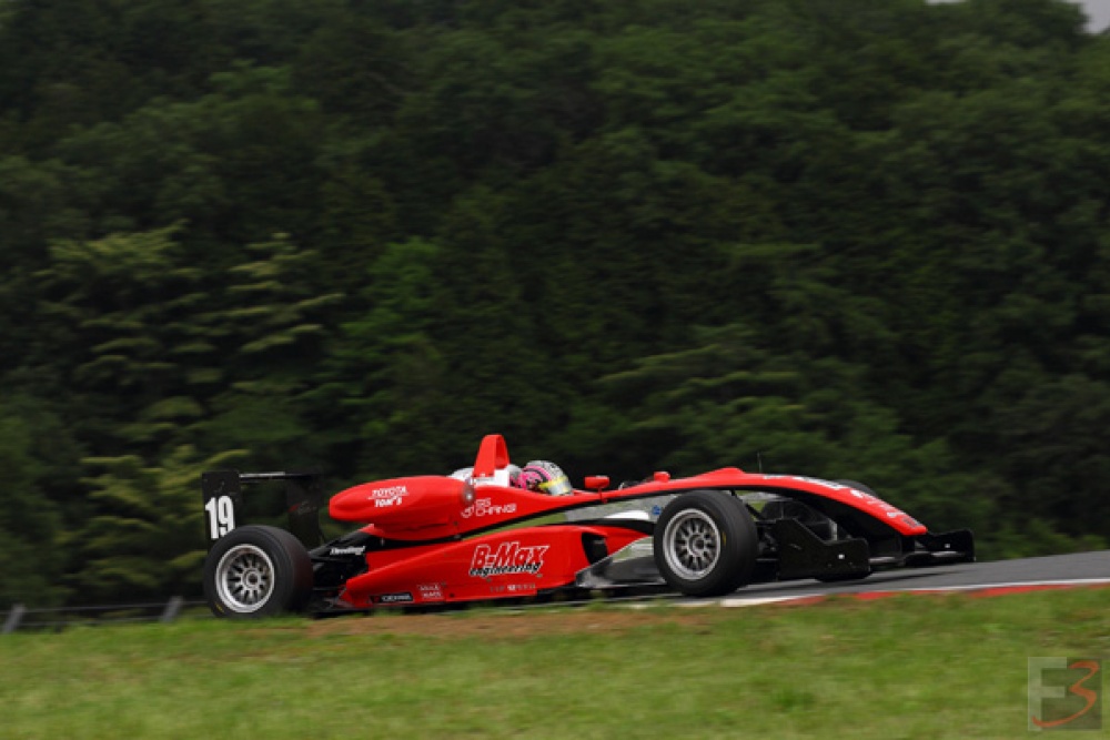
[[[362,526],[323,544],[317,476],[205,473],[205,598],[218,616],[251,618],[652,586],[708,597],[753,582],[975,560],[970,531],[929,533],[857,483],[726,467],[616,488],[591,476],[578,490],[555,468],[522,486],[534,467],[512,465],[504,438],[487,435],[461,475],[336,494],[332,519]],[[268,481],[284,484],[287,528],[242,526],[244,487]]]

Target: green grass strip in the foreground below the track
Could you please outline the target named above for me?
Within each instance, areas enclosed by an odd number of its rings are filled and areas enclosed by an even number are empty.
[[[16,633],[0,738],[1012,739],[1027,658],[1110,657],[1108,607],[1079,589]]]

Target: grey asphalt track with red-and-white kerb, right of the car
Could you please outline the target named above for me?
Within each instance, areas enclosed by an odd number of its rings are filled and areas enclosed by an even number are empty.
[[[1067,586],[1110,586],[1110,550],[931,568],[902,568],[839,584],[821,584],[816,580],[759,584],[741,588],[718,601],[723,606],[739,607],[837,594],[1011,591]]]

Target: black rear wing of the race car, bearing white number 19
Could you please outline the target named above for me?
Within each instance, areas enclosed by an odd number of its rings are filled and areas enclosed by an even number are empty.
[[[289,530],[310,549],[322,544],[324,537],[320,530],[320,509],[324,506],[325,497],[320,487],[321,478],[319,473],[211,470],[202,474],[201,493],[204,496],[209,547],[236,527],[249,524],[245,520],[243,488],[264,483],[284,483]]]

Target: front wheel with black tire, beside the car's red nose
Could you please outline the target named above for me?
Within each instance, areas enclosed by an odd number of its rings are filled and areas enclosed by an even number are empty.
[[[655,565],[686,596],[731,594],[751,579],[759,535],[743,501],[693,490],[667,504],[655,525]]]

